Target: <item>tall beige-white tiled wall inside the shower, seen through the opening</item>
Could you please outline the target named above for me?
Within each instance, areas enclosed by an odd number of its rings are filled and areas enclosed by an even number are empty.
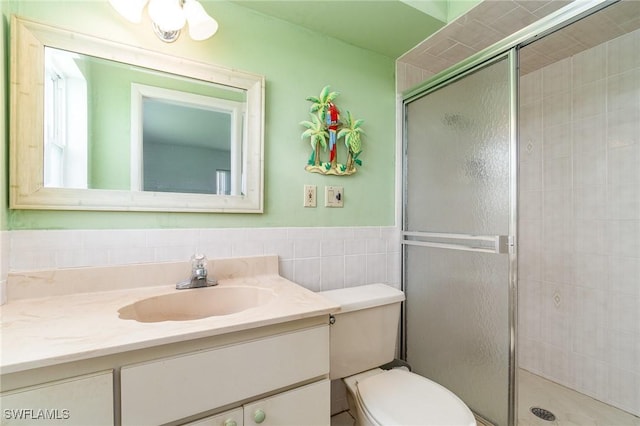
[[[521,78],[519,199],[520,366],[635,415],[638,52],[640,30]]]

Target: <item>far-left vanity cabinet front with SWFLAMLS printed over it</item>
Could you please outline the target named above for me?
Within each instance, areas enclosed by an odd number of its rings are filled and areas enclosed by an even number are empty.
[[[111,371],[4,392],[4,425],[113,425]]]

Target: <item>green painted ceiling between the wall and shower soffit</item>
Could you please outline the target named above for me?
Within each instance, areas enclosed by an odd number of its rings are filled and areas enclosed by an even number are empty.
[[[408,0],[232,1],[393,59],[446,23],[447,0],[413,2],[420,10]]]

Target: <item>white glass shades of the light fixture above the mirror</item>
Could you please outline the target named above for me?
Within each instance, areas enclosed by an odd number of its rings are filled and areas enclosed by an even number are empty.
[[[189,36],[194,40],[206,40],[218,31],[216,20],[197,0],[109,0],[109,3],[133,23],[142,21],[142,11],[146,6],[153,31],[167,43],[180,36],[185,23],[189,25]]]

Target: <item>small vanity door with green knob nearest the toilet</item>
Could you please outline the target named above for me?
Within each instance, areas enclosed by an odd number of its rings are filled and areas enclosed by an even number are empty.
[[[322,380],[244,406],[245,426],[328,426],[330,382]]]

